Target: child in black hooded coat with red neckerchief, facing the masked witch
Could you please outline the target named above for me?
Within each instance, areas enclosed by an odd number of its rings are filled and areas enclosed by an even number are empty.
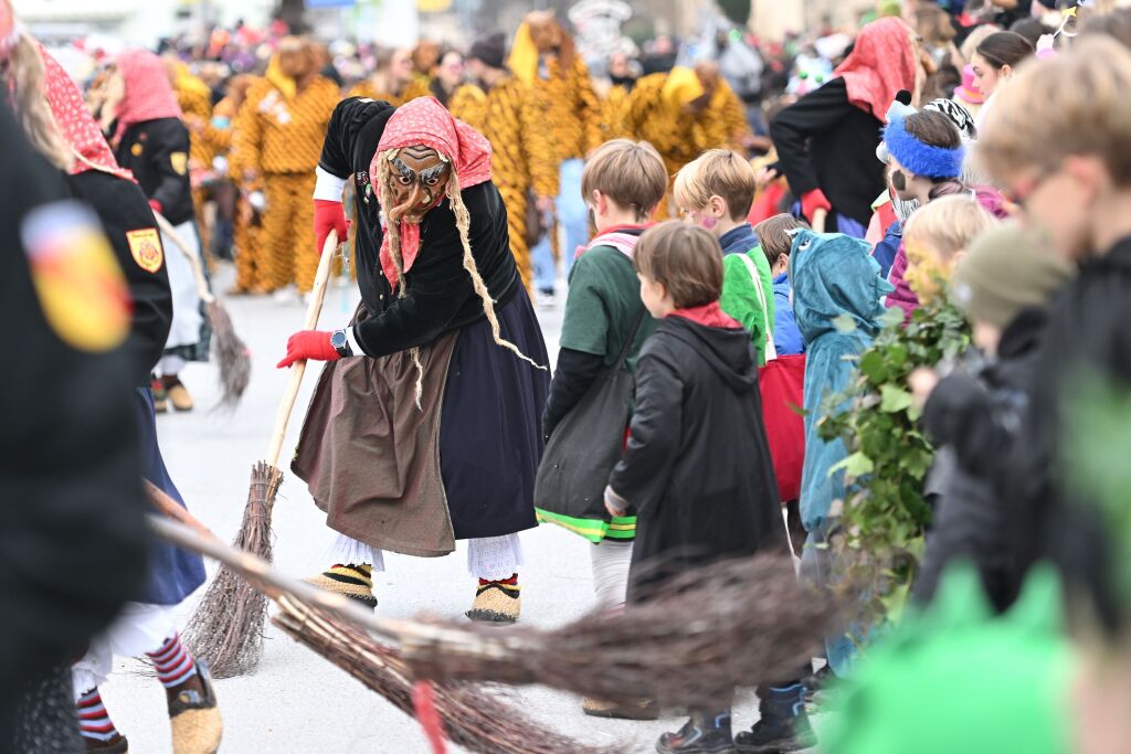
[[[663,223],[641,236],[633,262],[640,297],[659,323],[640,353],[628,450],[605,505],[612,515],[638,511],[629,579],[636,603],[696,566],[784,549],[785,535],[758,364],[749,335],[719,306],[718,242],[702,228]],[[706,753],[734,745],[728,709],[693,710],[656,748]]]

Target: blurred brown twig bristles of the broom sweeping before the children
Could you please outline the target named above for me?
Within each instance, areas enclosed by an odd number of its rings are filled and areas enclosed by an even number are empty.
[[[423,677],[543,684],[616,703],[711,707],[735,687],[793,679],[831,632],[836,605],[788,558],[728,561],[673,579],[642,604],[561,629],[457,624],[468,641],[402,636]]]

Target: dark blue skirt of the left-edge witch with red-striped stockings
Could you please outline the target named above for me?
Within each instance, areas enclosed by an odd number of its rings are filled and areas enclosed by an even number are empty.
[[[138,449],[141,456],[141,476],[184,508],[176,485],[169,478],[165,460],[157,444],[157,419],[153,411],[149,388],[138,388],[135,393],[138,418]],[[150,605],[178,605],[205,582],[205,562],[193,553],[173,547],[154,538],[149,543],[148,578],[145,591],[137,599]]]

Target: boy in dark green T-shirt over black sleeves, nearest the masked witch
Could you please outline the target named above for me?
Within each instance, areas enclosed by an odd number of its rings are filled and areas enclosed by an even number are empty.
[[[645,141],[614,139],[586,162],[581,192],[597,236],[570,271],[561,350],[542,417],[546,442],[586,393],[602,382],[602,372],[613,369],[622,354],[624,369],[629,373],[636,370],[637,355],[656,322],[640,301],[632,258],[666,190],[664,161]],[[622,435],[627,428],[621,427]],[[624,604],[636,513],[627,510],[608,517],[599,499],[592,505],[576,502],[569,501],[563,508],[536,500],[538,520],[556,523],[594,544],[590,556],[597,604],[603,609],[615,609]],[[654,704],[632,709],[587,699],[582,708],[597,717],[657,717]]]

